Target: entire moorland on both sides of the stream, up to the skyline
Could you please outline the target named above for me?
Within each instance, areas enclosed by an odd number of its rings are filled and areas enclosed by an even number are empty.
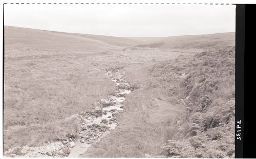
[[[137,89],[125,99],[117,128],[84,156],[232,157],[233,36],[110,37],[5,27],[4,150],[76,134],[71,117],[113,93],[104,70],[122,67]],[[159,41],[164,44],[151,46]]]

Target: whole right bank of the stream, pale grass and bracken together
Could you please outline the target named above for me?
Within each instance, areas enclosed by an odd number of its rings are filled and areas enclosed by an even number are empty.
[[[125,78],[140,88],[84,157],[234,157],[234,47],[131,67]]]

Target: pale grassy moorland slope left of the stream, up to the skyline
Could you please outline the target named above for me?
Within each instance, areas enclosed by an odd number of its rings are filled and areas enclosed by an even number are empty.
[[[115,84],[95,67],[96,55],[88,46],[98,50],[104,45],[72,35],[5,28],[5,150],[75,134],[76,121],[70,117],[112,93]]]

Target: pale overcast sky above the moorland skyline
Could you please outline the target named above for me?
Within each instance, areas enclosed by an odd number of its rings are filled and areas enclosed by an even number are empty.
[[[5,25],[70,33],[164,37],[234,32],[235,5],[6,4]]]

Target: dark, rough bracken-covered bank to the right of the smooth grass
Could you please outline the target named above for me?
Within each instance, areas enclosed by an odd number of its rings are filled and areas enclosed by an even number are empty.
[[[150,70],[170,101],[187,114],[169,123],[162,154],[171,157],[234,157],[234,47],[154,65]],[[172,81],[172,82],[170,82]],[[173,82],[176,85],[173,85]]]

